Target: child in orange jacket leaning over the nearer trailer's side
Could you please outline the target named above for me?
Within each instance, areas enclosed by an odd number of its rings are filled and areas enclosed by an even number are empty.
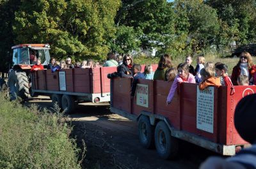
[[[199,84],[198,87],[201,91],[203,91],[209,85],[221,85],[220,78],[215,77],[214,68],[212,68],[211,66],[202,68],[202,70],[200,71],[200,75],[202,78],[202,82]]]

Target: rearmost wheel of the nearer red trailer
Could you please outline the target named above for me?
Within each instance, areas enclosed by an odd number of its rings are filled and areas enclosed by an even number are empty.
[[[178,139],[171,135],[170,129],[163,121],[157,123],[155,131],[155,144],[157,153],[163,159],[172,159],[178,154]]]

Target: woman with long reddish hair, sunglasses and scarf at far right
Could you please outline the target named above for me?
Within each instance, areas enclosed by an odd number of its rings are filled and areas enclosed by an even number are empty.
[[[239,62],[237,65],[233,68],[231,80],[234,85],[237,84],[237,78],[239,75],[245,75],[246,77],[249,77],[249,79],[252,77],[252,55],[250,55],[248,52],[242,52],[239,56]]]

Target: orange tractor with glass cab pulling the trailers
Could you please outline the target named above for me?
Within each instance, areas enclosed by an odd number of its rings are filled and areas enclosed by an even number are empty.
[[[20,97],[26,99],[29,96],[29,81],[31,66],[40,58],[44,68],[50,61],[49,44],[22,44],[12,47],[12,69],[9,71],[8,87],[10,98]]]

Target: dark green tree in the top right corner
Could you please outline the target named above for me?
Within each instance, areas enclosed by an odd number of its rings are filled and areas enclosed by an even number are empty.
[[[218,11],[221,20],[220,43],[228,45],[232,41],[242,44],[255,42],[255,0],[208,0],[206,3]]]

